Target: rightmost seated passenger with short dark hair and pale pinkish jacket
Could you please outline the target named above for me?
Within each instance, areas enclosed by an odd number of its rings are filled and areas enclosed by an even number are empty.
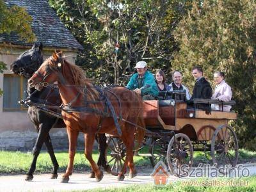
[[[232,97],[232,92],[230,86],[224,81],[224,73],[223,72],[214,72],[214,81],[216,83],[216,87],[214,90],[214,94],[212,95],[212,99],[217,99],[221,101],[230,101]],[[231,106],[223,106],[212,104],[213,110],[220,110],[220,111],[230,111]]]

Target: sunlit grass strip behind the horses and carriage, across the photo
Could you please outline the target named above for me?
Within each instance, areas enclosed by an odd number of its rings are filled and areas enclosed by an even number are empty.
[[[143,148],[140,153],[148,154],[148,147]],[[108,152],[109,154],[109,152]],[[68,164],[68,153],[67,151],[57,151],[55,152],[57,161],[60,165],[59,172],[64,172]],[[93,151],[93,159],[97,162],[98,151]],[[108,161],[110,160],[108,156]],[[31,152],[8,152],[0,151],[0,173],[24,173],[28,172],[30,164],[32,162],[33,155]],[[256,152],[240,149],[239,150],[239,161],[238,163],[245,162],[256,162]],[[151,167],[148,157],[134,156],[134,163],[136,167],[147,166]],[[198,163],[211,163],[207,162],[203,152],[194,152],[194,165]],[[112,165],[110,163],[110,165]],[[38,156],[38,161],[36,163],[36,172],[38,173],[50,173],[52,171],[52,162],[49,154],[45,151],[41,152]],[[89,162],[86,160],[83,151],[77,151],[74,160],[74,172],[85,172],[90,170]]]

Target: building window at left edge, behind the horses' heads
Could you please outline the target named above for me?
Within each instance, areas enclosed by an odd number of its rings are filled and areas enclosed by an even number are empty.
[[[14,74],[4,74],[3,111],[24,111],[19,100],[26,99],[27,79]]]

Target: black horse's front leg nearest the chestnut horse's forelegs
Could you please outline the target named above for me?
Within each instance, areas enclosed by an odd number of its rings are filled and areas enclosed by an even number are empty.
[[[52,172],[52,176],[51,176],[51,179],[57,179],[58,177],[58,168],[59,168],[59,164],[58,164],[58,161],[54,155],[54,150],[53,150],[53,147],[52,147],[52,141],[51,141],[51,138],[50,138],[50,135],[49,133],[47,134],[47,137],[45,138],[45,141],[44,141],[46,147],[47,147],[47,151],[51,157],[51,161],[52,161],[52,164],[53,164],[53,172]]]

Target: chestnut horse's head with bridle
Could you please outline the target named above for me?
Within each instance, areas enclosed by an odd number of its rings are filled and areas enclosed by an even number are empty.
[[[56,81],[62,81],[61,68],[64,63],[62,52],[54,52],[50,58],[36,70],[35,74],[28,80],[29,87],[42,90],[44,86]],[[62,77],[62,78],[61,78]]]

